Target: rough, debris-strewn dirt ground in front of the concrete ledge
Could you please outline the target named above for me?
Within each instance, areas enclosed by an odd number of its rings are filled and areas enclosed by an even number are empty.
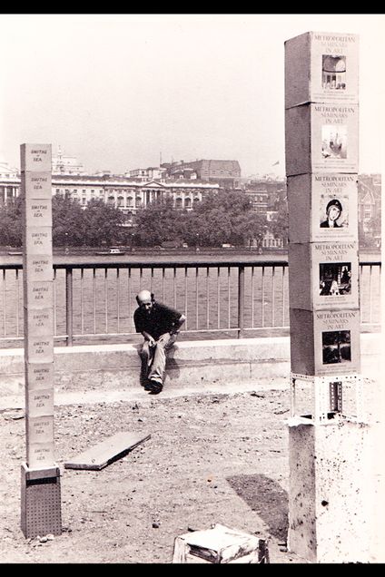
[[[55,408],[63,534],[20,529],[23,409],[0,413],[0,562],[171,563],[188,530],[222,523],[269,539],[271,562],[301,562],[285,547],[287,390],[170,397]],[[151,438],[101,471],[64,462],[120,431]]]

